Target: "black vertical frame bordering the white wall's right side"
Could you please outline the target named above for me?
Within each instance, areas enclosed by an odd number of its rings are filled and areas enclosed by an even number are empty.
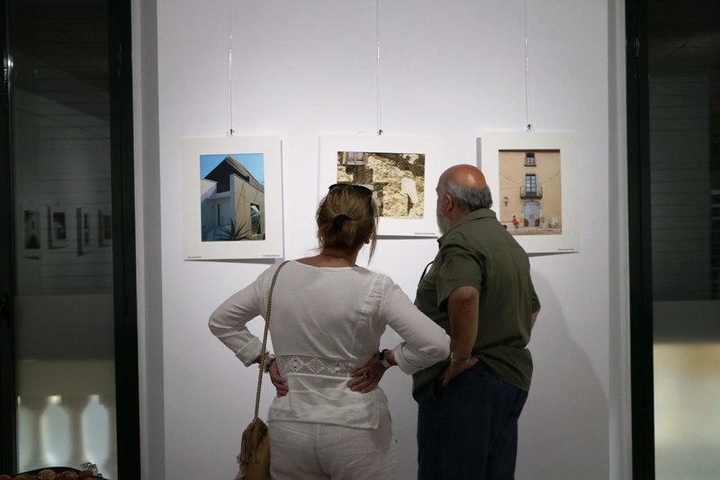
[[[626,41],[633,478],[640,480],[655,477],[647,0],[626,1]]]

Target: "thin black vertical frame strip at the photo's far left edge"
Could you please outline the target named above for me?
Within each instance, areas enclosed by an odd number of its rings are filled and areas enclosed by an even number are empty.
[[[3,95],[0,113],[0,231],[14,231],[13,170],[10,143],[10,96],[8,67],[10,50],[7,44],[7,5],[0,0],[0,45],[3,49]],[[15,390],[15,339],[13,326],[14,266],[13,239],[0,235],[0,294],[4,305],[0,312],[0,472],[17,469],[17,401]]]

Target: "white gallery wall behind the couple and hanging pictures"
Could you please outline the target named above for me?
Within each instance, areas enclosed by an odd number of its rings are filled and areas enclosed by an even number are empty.
[[[270,263],[183,260],[183,138],[227,136],[230,122],[236,136],[282,138],[284,252],[298,258],[316,246],[314,212],[327,188],[318,185],[320,135],[382,127],[386,136],[439,137],[443,170],[475,163],[481,132],[521,132],[529,119],[533,131],[576,132],[580,252],[531,258],[543,308],[529,346],[536,369],[517,477],[621,477],[618,3],[137,1],[143,476],[231,478],[255,401],[257,370],[212,337],[207,319]],[[370,267],[414,298],[436,251],[432,239],[383,239]],[[251,330],[261,333],[262,322]],[[396,341],[388,331],[383,347]],[[397,368],[381,384],[401,479],[417,471],[410,384]],[[263,417],[272,395],[268,382]]]

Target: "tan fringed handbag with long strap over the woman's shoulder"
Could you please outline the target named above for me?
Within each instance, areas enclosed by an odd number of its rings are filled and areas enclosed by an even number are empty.
[[[270,311],[273,305],[273,289],[275,288],[275,280],[280,269],[287,263],[285,260],[275,270],[273,283],[270,284],[270,294],[267,295],[267,313],[265,316],[265,334],[263,334],[263,349],[265,355],[267,346],[267,328],[270,326]],[[270,480],[270,436],[267,434],[267,425],[265,421],[257,417],[257,411],[260,409],[260,388],[263,386],[263,373],[265,362],[260,362],[260,373],[257,376],[257,397],[255,398],[255,417],[247,429],[242,432],[242,444],[240,445],[240,453],[238,455],[238,464],[240,471],[235,480]]]

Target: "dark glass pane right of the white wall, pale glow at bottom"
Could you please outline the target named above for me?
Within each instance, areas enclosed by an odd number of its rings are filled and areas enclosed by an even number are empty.
[[[720,472],[720,27],[648,2],[655,477]]]

